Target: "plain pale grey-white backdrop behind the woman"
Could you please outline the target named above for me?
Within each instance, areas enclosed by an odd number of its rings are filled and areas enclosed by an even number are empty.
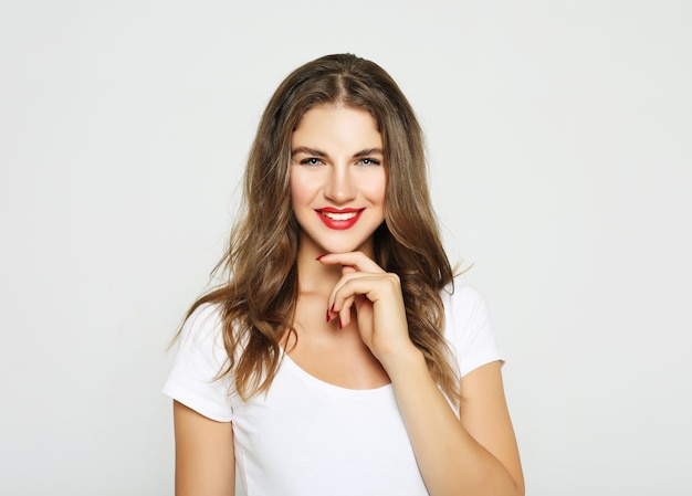
[[[0,494],[170,495],[167,345],[327,53],[424,127],[527,494],[692,494],[692,4],[2,1]]]

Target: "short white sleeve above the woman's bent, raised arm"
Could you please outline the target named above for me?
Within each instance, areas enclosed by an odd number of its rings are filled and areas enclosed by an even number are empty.
[[[455,281],[454,292],[444,292],[443,302],[444,335],[461,377],[492,361],[504,361],[495,345],[485,302],[475,288]]]

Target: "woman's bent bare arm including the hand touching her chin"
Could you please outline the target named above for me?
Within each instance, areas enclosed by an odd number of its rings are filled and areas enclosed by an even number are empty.
[[[329,308],[348,324],[391,380],[416,460],[431,496],[523,496],[524,479],[500,362],[464,376],[458,419],[411,342],[399,278],[361,253],[319,258],[344,266]]]

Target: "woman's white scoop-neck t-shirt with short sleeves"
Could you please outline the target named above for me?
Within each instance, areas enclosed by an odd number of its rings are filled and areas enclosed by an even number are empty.
[[[461,376],[502,360],[479,293],[458,281],[442,297]],[[339,388],[284,353],[269,392],[245,402],[228,376],[214,380],[226,360],[218,307],[202,305],[182,328],[164,392],[233,422],[237,476],[248,496],[428,495],[391,384]]]

